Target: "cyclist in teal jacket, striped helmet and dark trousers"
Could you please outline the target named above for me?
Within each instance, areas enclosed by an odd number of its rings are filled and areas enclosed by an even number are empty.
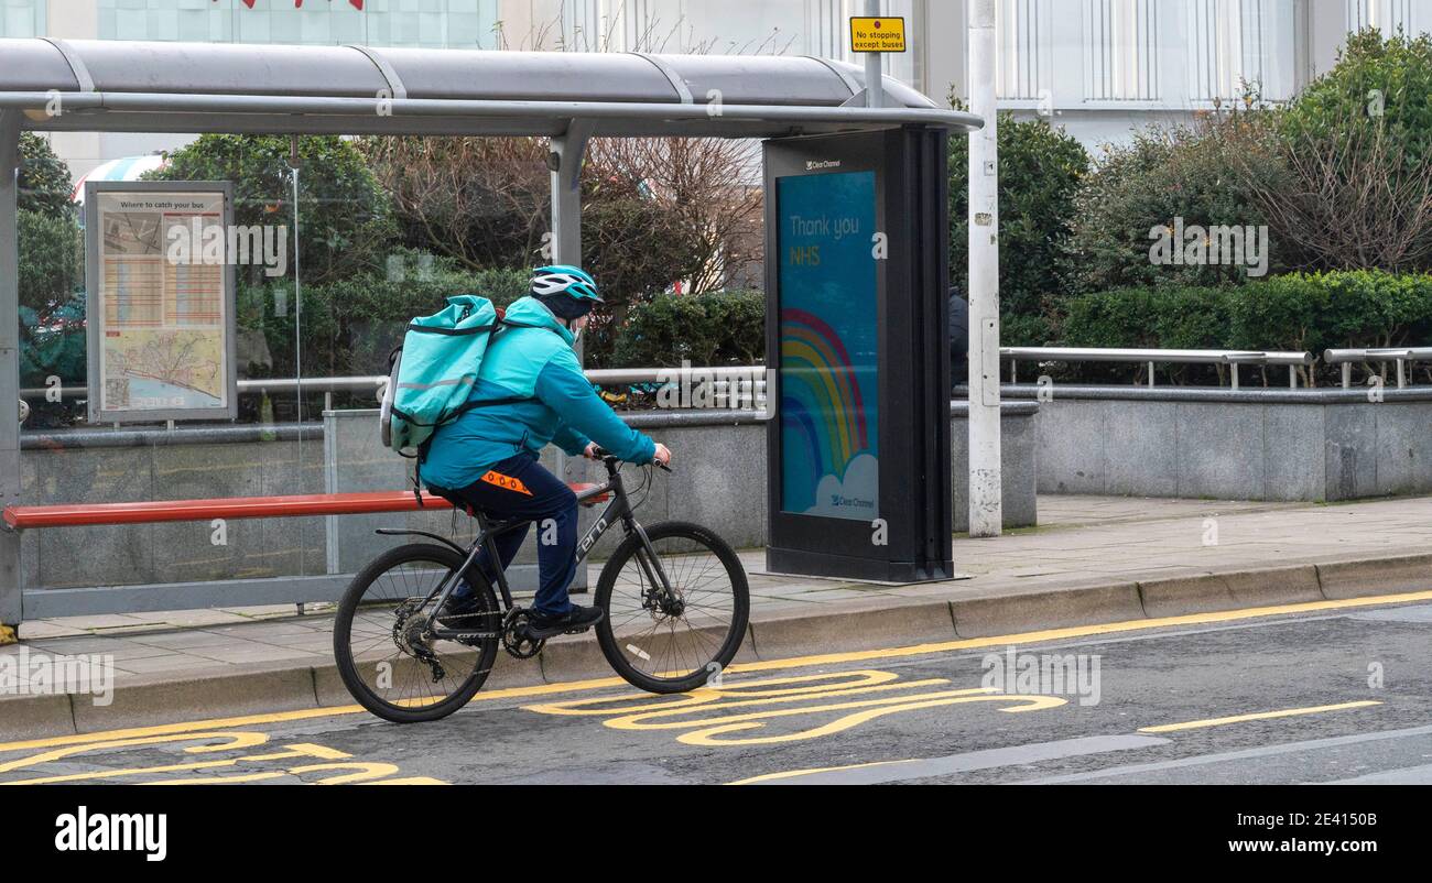
[[[596,280],[576,266],[533,270],[531,292],[507,308],[468,402],[458,419],[440,426],[422,459],[422,484],[458,508],[498,518],[536,521],[540,588],[528,611],[528,634],[548,638],[601,621],[596,607],[573,604],[567,587],[576,574],[577,498],[537,462],[554,444],[569,455],[596,458],[597,447],[634,464],[666,464],[672,452],[623,424],[581,374],[573,346],[591,308],[601,303]],[[527,525],[497,537],[505,570]],[[494,577],[484,551],[478,565]],[[475,613],[467,582],[450,595],[440,617]],[[461,623],[457,623],[458,625]]]

